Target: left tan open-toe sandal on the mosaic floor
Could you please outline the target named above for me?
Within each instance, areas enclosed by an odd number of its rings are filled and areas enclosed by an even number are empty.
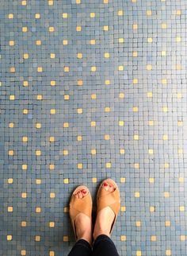
[[[82,189],[85,189],[88,192],[86,196],[84,196],[83,198],[77,198],[76,196],[74,196],[78,191],[81,191]],[[74,229],[74,237],[76,241],[78,240],[78,237],[76,234],[74,219],[79,213],[84,213],[87,216],[89,216],[91,219],[92,197],[90,195],[89,189],[84,185],[78,186],[77,188],[74,189],[74,192],[72,193],[71,201],[70,201],[70,217],[71,217],[71,223]]]

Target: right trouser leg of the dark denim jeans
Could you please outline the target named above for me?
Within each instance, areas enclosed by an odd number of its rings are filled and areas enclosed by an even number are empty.
[[[119,256],[119,254],[109,236],[99,235],[93,243],[93,256]]]

